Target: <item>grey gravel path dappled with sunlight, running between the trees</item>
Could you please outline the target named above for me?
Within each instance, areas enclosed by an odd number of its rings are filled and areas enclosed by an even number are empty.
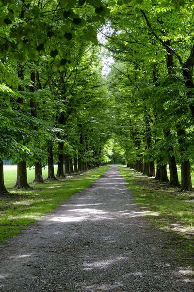
[[[194,292],[117,167],[0,251],[3,292]]]

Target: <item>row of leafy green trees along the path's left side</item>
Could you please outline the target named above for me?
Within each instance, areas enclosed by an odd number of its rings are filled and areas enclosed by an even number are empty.
[[[108,162],[110,100],[95,23],[100,0],[0,2],[0,193],[3,160],[17,163],[16,188]]]

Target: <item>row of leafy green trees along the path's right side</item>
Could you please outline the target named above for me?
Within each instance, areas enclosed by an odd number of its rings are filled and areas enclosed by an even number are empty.
[[[192,190],[194,5],[191,1],[108,1],[107,49],[114,131],[128,166]],[[155,174],[155,162],[157,173]]]

